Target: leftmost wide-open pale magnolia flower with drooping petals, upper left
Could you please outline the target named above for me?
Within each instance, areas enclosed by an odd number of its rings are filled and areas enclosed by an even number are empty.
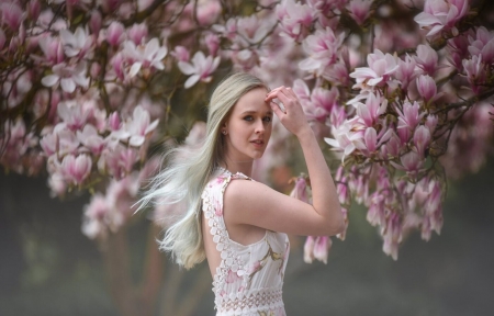
[[[60,63],[53,66],[52,71],[53,75],[43,77],[43,86],[54,87],[60,82],[61,90],[68,93],[76,91],[77,86],[82,88],[88,88],[89,86],[89,78],[86,77],[86,61],[80,61],[77,65]]]

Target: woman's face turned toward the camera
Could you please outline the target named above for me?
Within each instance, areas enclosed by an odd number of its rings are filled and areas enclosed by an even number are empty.
[[[267,90],[256,88],[245,93],[232,110],[222,132],[226,131],[226,157],[232,161],[258,159],[265,153],[272,129],[272,110],[265,102]]]

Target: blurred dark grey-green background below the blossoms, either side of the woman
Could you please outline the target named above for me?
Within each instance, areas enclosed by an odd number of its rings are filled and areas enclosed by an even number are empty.
[[[156,255],[157,267],[145,262],[146,248],[156,250],[159,237],[159,229],[148,230],[146,214],[124,229],[125,242],[97,245],[80,230],[89,194],[60,201],[49,198],[43,177],[0,174],[0,315],[215,314],[204,264],[180,271],[164,253]],[[303,239],[292,236],[283,289],[288,315],[492,315],[493,176],[491,158],[476,174],[449,181],[441,235],[428,242],[408,236],[397,261],[382,252],[379,234],[357,206],[347,239],[334,238],[326,266],[304,263]],[[119,278],[122,268],[128,280]],[[134,285],[127,295],[146,296],[142,280],[154,281],[151,311],[145,311],[145,297],[141,307],[119,309],[125,303],[109,285],[115,275],[117,289]]]

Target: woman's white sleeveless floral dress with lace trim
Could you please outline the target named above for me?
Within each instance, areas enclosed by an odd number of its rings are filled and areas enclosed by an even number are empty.
[[[243,173],[220,169],[202,193],[202,210],[221,252],[221,263],[213,278],[216,315],[284,316],[282,285],[289,239],[287,234],[271,230],[247,246],[229,239],[223,218],[223,193],[236,179],[254,181]]]

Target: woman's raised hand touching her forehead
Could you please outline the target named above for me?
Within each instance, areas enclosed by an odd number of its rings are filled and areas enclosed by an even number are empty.
[[[284,112],[273,101],[274,99],[278,99],[283,103]],[[300,136],[311,129],[302,105],[299,102],[299,98],[296,98],[291,88],[282,86],[271,90],[268,95],[266,95],[265,102],[269,103],[274,114],[280,119],[281,124],[295,136]]]

